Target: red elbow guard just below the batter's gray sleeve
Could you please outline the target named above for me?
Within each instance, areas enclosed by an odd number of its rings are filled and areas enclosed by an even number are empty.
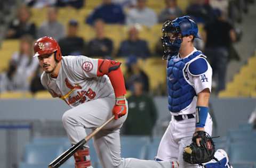
[[[101,77],[111,71],[115,71],[120,67],[120,65],[121,63],[117,61],[99,59],[97,76]]]

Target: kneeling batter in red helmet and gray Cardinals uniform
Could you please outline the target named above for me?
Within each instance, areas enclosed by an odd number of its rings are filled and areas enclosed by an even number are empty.
[[[42,85],[53,97],[61,98],[72,107],[62,117],[71,144],[86,137],[85,128],[95,129],[115,115],[116,120],[93,137],[104,168],[178,167],[177,162],[121,158],[119,130],[128,110],[121,63],[86,56],[62,57],[57,41],[51,37],[39,38],[34,51],[44,70]],[[79,149],[74,157],[77,168],[91,167],[87,146]]]

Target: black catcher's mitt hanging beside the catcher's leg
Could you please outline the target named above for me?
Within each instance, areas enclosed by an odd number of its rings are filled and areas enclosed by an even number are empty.
[[[202,138],[200,147],[196,144],[196,139]],[[215,147],[210,135],[204,131],[197,131],[183,152],[183,160],[191,164],[201,164],[211,161],[214,157]]]

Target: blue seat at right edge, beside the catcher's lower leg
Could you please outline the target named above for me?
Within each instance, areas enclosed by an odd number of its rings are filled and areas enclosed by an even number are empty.
[[[255,141],[239,141],[231,143],[229,156],[231,163],[254,162],[256,164]]]

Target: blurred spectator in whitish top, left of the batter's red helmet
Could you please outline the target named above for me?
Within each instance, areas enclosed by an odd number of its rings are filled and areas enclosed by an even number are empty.
[[[38,66],[38,60],[33,58],[33,41],[28,35],[21,37],[19,52],[12,55],[9,68],[1,74],[2,91],[28,90],[29,79]]]

